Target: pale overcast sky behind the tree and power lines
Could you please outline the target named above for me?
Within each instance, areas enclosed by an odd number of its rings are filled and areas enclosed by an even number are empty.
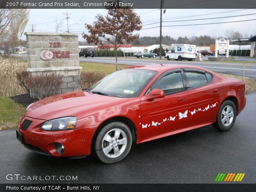
[[[230,12],[232,11],[232,12]],[[66,15],[69,14],[70,32],[87,32],[84,27],[84,23],[92,24],[95,21],[96,14],[105,15],[107,13],[104,9],[31,9],[29,22],[24,32],[32,30],[32,24],[36,25],[34,31],[36,32],[55,32],[55,19],[58,22],[62,21],[62,32],[67,31]],[[160,21],[159,9],[135,9],[135,12],[140,16],[142,24],[152,24]],[[226,13],[220,13],[226,12]],[[212,14],[214,13],[214,14]],[[237,16],[244,14],[254,14],[249,16],[239,16],[231,18],[219,18],[210,20],[195,20],[195,21],[180,21],[180,22],[163,22],[164,25],[186,25],[186,24],[203,24],[203,23],[217,23],[217,22],[230,22],[239,20],[252,20],[256,19],[256,9],[166,9],[166,13],[163,14],[163,21],[176,21],[176,20],[192,20],[202,18],[216,18],[225,16]],[[208,14],[208,15],[202,15]],[[200,16],[198,16],[200,15]],[[144,28],[150,28],[159,26],[160,24],[152,24],[143,26]],[[251,34],[256,35],[256,20],[246,22],[233,22],[224,24],[210,24],[200,26],[175,26],[175,27],[163,27],[162,35],[178,38],[179,36],[200,36],[209,35],[213,37],[225,36],[226,29],[233,29],[239,31],[243,35],[249,37]],[[140,30],[138,33],[140,36],[159,36],[160,28]],[[22,39],[26,37],[23,36]],[[79,40],[83,40],[82,36],[79,36]]]

